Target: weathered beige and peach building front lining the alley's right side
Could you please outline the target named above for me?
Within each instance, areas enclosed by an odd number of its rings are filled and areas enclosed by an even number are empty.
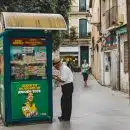
[[[90,0],[93,74],[112,89],[128,92],[126,1]]]

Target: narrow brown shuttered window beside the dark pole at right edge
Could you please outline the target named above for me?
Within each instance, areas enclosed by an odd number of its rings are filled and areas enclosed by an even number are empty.
[[[128,42],[124,42],[124,72],[128,72]]]

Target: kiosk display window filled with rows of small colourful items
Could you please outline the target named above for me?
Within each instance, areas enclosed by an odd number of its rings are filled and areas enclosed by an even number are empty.
[[[46,46],[11,46],[11,79],[46,79]]]

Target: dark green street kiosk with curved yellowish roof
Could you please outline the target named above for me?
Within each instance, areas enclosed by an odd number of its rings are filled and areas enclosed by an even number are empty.
[[[66,30],[65,20],[59,14],[10,12],[1,13],[1,20],[3,122],[52,122],[51,30]]]

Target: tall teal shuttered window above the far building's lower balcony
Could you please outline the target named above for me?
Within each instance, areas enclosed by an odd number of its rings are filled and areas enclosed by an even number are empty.
[[[87,36],[87,19],[79,20],[79,38],[86,38]]]

